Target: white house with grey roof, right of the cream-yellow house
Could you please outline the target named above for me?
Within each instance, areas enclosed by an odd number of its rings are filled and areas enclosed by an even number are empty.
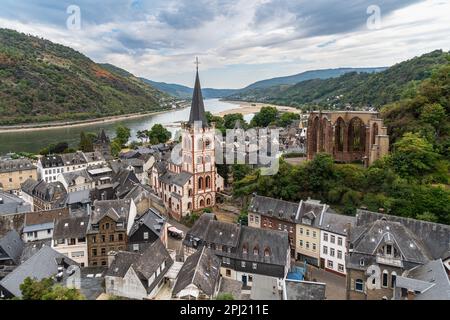
[[[319,221],[320,266],[325,270],[346,275],[347,232],[355,224],[355,217],[324,212]]]

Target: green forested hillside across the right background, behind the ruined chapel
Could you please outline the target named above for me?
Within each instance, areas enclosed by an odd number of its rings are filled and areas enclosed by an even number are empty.
[[[351,72],[338,78],[313,79],[296,85],[244,91],[228,99],[296,107],[319,105],[327,109],[342,109],[348,104],[354,107],[380,107],[408,96],[418,83],[431,76],[436,67],[447,62],[447,56],[448,53],[436,50],[379,73]]]

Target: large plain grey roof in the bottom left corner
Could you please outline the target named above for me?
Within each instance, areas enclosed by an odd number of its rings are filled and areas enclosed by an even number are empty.
[[[20,285],[25,278],[30,277],[41,280],[56,275],[58,273],[58,259],[64,259],[66,265],[77,264],[65,255],[45,246],[3,278],[3,280],[0,281],[0,286],[5,288],[15,297],[22,297]]]

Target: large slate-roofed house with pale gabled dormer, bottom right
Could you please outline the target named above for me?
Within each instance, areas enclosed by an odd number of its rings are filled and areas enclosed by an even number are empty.
[[[447,225],[358,210],[348,237],[347,299],[391,299],[397,278],[446,255],[448,239]]]

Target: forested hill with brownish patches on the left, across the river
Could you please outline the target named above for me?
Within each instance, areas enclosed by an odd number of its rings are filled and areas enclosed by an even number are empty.
[[[171,98],[48,40],[0,29],[0,124],[156,111]]]

